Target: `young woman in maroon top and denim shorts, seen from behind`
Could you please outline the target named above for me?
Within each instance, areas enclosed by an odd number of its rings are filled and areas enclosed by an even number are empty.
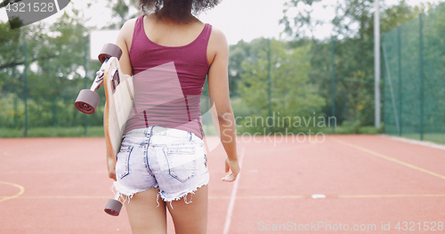
[[[219,2],[140,0],[142,16],[125,22],[117,38],[121,69],[134,76],[135,109],[117,163],[108,156],[108,168],[133,233],[166,233],[166,209],[176,233],[206,233],[208,172],[196,98],[206,77],[228,156],[223,181],[239,173],[229,47],[220,30],[193,16]],[[187,121],[178,124],[172,109],[186,111]]]

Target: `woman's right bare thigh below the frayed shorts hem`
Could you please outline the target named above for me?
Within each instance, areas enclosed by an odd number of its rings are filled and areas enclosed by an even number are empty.
[[[203,186],[195,194],[187,195],[186,204],[184,199],[173,201],[172,207],[166,204],[168,211],[172,214],[174,230],[176,234],[205,234],[207,229],[207,186]]]

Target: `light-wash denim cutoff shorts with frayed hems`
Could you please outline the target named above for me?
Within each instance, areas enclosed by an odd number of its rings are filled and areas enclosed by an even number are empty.
[[[158,196],[171,202],[206,185],[204,141],[196,134],[174,128],[149,126],[126,133],[117,154],[114,188],[132,198],[158,188]]]

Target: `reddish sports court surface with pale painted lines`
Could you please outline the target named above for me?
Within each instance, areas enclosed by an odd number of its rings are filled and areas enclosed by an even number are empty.
[[[207,233],[443,231],[444,149],[379,135],[238,140],[237,182],[221,182],[221,145],[207,154]],[[0,139],[0,233],[131,233],[125,209],[103,212],[111,184],[103,138]]]

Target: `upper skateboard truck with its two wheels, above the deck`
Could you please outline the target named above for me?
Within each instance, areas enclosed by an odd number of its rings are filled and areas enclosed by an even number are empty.
[[[122,55],[122,50],[116,44],[104,44],[101,50],[101,53],[98,56],[99,61],[101,61],[101,69],[96,72],[96,77],[94,78],[93,85],[91,85],[90,89],[83,89],[77,95],[76,102],[74,105],[76,109],[85,114],[93,114],[96,110],[99,102],[101,101],[101,97],[96,91],[103,84],[103,74],[105,72],[105,68],[107,67],[107,62],[109,58],[116,57],[117,60],[120,59]]]

